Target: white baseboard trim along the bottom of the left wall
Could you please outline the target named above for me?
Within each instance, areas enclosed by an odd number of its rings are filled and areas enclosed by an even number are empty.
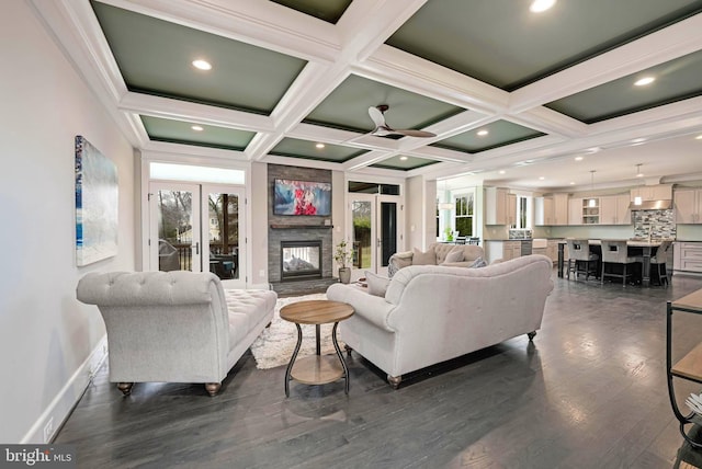
[[[54,441],[54,436],[68,419],[73,408],[92,381],[95,371],[100,369],[107,356],[107,335],[105,334],[95,345],[91,354],[78,367],[61,388],[46,410],[34,422],[34,425],[20,441],[21,444],[45,444]],[[44,435],[46,424],[52,422],[50,432]]]

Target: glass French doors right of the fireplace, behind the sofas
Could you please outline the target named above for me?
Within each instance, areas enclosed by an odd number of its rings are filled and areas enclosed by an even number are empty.
[[[364,271],[387,275],[390,255],[401,242],[400,197],[396,195],[350,193],[351,241],[353,245],[352,279]]]

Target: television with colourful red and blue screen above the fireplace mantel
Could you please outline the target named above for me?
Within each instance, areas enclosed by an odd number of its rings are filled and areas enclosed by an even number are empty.
[[[331,183],[276,179],[273,187],[274,215],[331,215]]]

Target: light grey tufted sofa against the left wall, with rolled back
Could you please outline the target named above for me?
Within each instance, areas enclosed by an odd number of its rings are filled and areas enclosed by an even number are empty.
[[[204,382],[215,396],[229,369],[271,322],[278,295],[225,290],[211,273],[90,273],[77,287],[107,330],[110,381]]]

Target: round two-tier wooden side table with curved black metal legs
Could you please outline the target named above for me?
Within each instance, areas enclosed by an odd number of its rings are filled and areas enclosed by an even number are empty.
[[[329,301],[326,299],[298,301],[281,308],[281,318],[294,322],[297,327],[297,344],[285,370],[285,396],[290,397],[290,380],[294,379],[305,385],[325,385],[343,377],[346,379],[346,393],[349,393],[349,368],[339,348],[337,341],[337,327],[339,321],[353,316],[353,308],[346,302]],[[333,322],[331,329],[331,342],[337,351],[337,356],[321,355],[319,340],[320,325]],[[315,355],[297,358],[297,353],[303,343],[303,329],[301,324],[315,324],[317,333],[317,353]]]

